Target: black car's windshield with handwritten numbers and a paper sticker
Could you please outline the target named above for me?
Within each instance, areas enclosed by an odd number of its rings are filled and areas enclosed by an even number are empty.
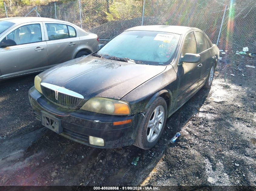
[[[119,34],[97,54],[103,58],[127,58],[141,64],[168,65],[176,52],[180,35],[132,30]]]

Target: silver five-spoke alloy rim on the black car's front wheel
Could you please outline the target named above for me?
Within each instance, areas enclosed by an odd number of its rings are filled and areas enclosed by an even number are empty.
[[[165,110],[163,106],[158,106],[152,113],[148,121],[147,140],[153,142],[161,132],[163,122],[165,120]]]

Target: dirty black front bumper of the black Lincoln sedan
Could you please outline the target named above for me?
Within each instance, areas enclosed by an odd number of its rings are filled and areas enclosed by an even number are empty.
[[[29,90],[29,101],[36,119],[42,122],[41,111],[61,120],[63,132],[60,135],[84,145],[90,145],[89,136],[102,138],[105,146],[98,148],[117,148],[132,145],[138,132],[143,115],[129,117],[109,116],[84,110],[70,110],[49,102],[33,86]],[[113,126],[113,122],[132,119],[132,123]]]

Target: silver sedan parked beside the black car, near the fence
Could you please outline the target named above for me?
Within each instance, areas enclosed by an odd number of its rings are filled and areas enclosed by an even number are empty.
[[[0,19],[0,80],[40,72],[97,50],[98,36],[66,21]]]

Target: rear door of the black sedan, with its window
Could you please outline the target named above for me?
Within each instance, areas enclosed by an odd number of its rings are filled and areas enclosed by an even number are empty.
[[[206,78],[210,72],[211,66],[214,64],[214,53],[206,36],[199,31],[195,31],[195,33],[202,63],[201,78]]]

